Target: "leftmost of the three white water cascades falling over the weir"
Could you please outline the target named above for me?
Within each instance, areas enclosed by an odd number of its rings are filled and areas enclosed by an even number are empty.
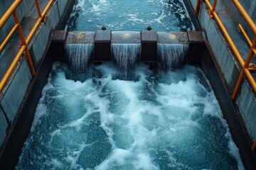
[[[88,72],[92,64],[92,44],[66,44],[66,62],[74,72]]]

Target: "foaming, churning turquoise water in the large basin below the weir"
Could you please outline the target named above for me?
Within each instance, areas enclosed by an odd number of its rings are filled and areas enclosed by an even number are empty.
[[[243,169],[201,69],[157,70],[103,63],[81,82],[56,62],[16,169]]]

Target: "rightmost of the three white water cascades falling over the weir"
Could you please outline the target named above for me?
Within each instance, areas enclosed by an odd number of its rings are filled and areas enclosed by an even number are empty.
[[[188,45],[158,44],[159,68],[161,71],[171,71],[181,67],[185,61]]]

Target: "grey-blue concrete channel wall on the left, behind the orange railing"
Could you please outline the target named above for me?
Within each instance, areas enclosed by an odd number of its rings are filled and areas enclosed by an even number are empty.
[[[13,1],[0,1],[0,16],[6,11]],[[47,1],[43,1],[46,4]],[[48,48],[48,42],[51,30],[59,29],[60,24],[65,20],[67,11],[70,11],[70,6],[73,6],[74,0],[56,0],[50,7],[46,23],[41,23],[36,34],[33,36],[30,44],[28,45],[34,67],[38,71],[38,67],[42,62],[45,52]],[[31,11],[35,10],[34,0],[24,0],[21,6],[18,6],[17,13],[20,18],[26,20]],[[29,19],[29,17],[28,17]],[[0,40],[3,39],[2,35],[7,35],[14,25],[12,18],[1,29]],[[23,21],[21,21],[22,23]],[[0,41],[2,42],[2,40]],[[26,57],[22,56],[18,61],[14,72],[11,74],[9,81],[0,94],[0,159],[9,140],[12,129],[18,119],[19,108],[23,103],[23,98],[28,94],[27,89],[33,79]]]

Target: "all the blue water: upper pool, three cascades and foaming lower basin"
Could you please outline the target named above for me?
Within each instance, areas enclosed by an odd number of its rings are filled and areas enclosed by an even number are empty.
[[[68,30],[193,30],[178,0],[78,0]],[[90,65],[93,45],[65,45],[16,169],[244,169],[210,84],[185,63],[188,45],[112,43],[112,62]],[[91,71],[90,71],[91,70]]]

